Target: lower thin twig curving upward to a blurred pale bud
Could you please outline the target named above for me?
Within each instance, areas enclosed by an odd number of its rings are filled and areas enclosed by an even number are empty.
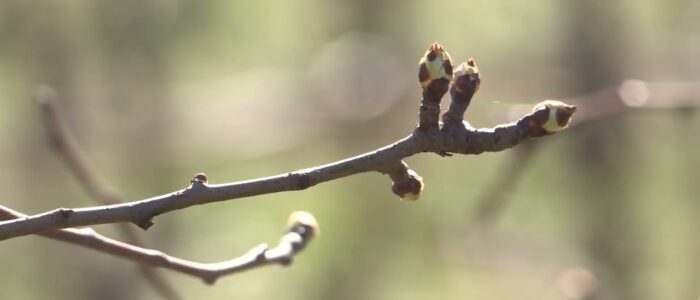
[[[0,205],[0,219],[23,217],[26,215]],[[318,235],[318,224],[311,214],[295,212],[290,215],[287,232],[282,236],[277,246],[269,248],[267,244],[260,244],[243,256],[218,263],[199,263],[169,256],[158,250],[110,239],[91,228],[52,230],[41,232],[39,235],[121,257],[141,265],[177,271],[213,284],[223,276],[253,268],[274,264],[283,266],[291,264],[294,256]]]

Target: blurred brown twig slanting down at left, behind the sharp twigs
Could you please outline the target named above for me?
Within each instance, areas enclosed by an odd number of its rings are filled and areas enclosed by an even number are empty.
[[[44,86],[37,90],[36,97],[41,107],[42,119],[49,135],[51,148],[66,164],[78,183],[99,204],[122,203],[121,197],[99,179],[87,155],[78,144],[66,122],[61,118],[58,112],[56,93],[51,88]],[[133,227],[126,223],[117,223],[115,225],[119,234],[127,243],[137,247],[145,247],[144,242],[138,237]],[[155,269],[147,265],[141,265],[139,270],[161,297],[164,299],[182,299],[168,280]]]

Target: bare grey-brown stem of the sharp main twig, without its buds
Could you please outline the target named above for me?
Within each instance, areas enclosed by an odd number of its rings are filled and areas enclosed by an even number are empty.
[[[420,152],[479,154],[501,151],[531,137],[529,128],[532,118],[532,114],[528,114],[516,123],[494,129],[450,127],[456,130],[443,130],[435,136],[416,130],[412,135],[376,151],[311,169],[219,185],[195,182],[180,191],[124,204],[79,209],[59,208],[0,222],[0,240],[43,230],[117,222],[132,222],[147,229],[153,224],[154,216],[169,211],[255,195],[304,190],[322,182],[382,170],[387,163]]]

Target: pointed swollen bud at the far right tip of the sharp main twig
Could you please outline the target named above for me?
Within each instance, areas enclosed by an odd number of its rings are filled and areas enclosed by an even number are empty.
[[[569,127],[576,107],[561,101],[544,100],[536,104],[532,112],[532,126],[552,134]]]

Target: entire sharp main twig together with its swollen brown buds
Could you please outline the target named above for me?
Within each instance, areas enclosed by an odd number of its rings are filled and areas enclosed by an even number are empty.
[[[423,105],[419,112],[420,126],[408,137],[396,143],[328,165],[272,177],[218,185],[209,185],[205,180],[195,179],[183,190],[141,201],[78,209],[59,208],[34,216],[4,221],[0,222],[0,240],[45,230],[117,222],[131,222],[147,229],[153,225],[153,217],[193,205],[304,190],[319,183],[365,172],[388,173],[388,170],[396,170],[395,166],[403,163],[402,159],[421,152],[434,152],[444,156],[450,153],[480,154],[502,151],[524,140],[554,134],[566,128],[576,111],[575,107],[561,102],[545,101],[536,105],[532,112],[518,121],[491,129],[472,128],[469,124],[455,119],[454,113],[451,114],[450,120],[444,120],[444,124],[439,123],[440,111],[434,108],[436,105],[439,107],[439,101],[447,92],[448,86],[451,85],[454,91],[451,93],[453,103],[468,104],[480,83],[479,73],[473,60],[457,68],[456,78],[453,81],[444,80],[447,75],[452,78],[452,66],[446,63],[445,57],[449,58],[449,56],[443,55],[443,51],[441,46],[433,45],[421,61],[419,81],[424,87],[424,97],[429,99],[424,98],[422,101]],[[449,85],[446,85],[446,82]],[[425,108],[426,103],[429,103],[429,109]],[[466,105],[461,106],[466,110]],[[454,111],[460,110],[459,105],[454,107]],[[463,113],[463,111],[460,112]],[[405,168],[407,175],[394,174],[392,178],[417,181],[415,176],[408,174],[409,171],[410,169]],[[422,181],[420,186],[422,187]],[[397,194],[402,197],[406,195],[406,193]]]

